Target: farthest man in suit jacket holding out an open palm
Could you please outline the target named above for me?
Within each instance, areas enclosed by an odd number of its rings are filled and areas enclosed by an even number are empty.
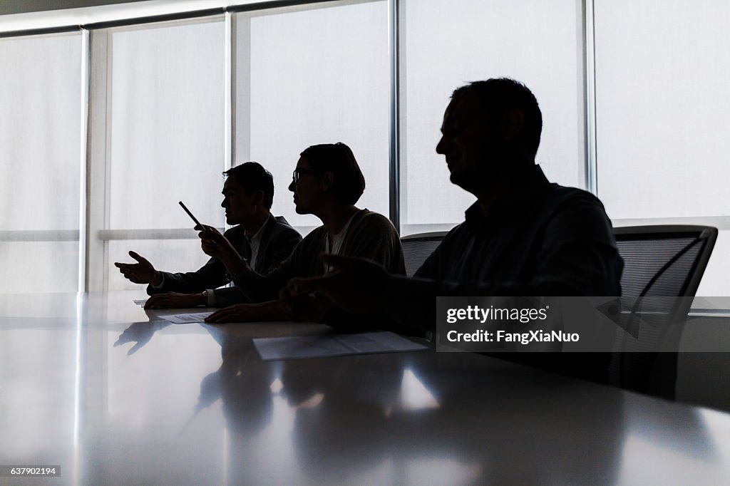
[[[226,223],[237,225],[226,231],[237,258],[245,258],[251,266],[266,274],[284,261],[301,235],[282,216],[274,217],[270,209],[274,201],[274,179],[261,164],[246,162],[224,172],[223,202]],[[230,281],[226,266],[211,258],[201,269],[172,274],[158,271],[135,252],[129,255],[138,263],[115,263],[124,277],[134,283],[148,284],[146,308],[223,307],[247,301],[235,288],[220,288]]]

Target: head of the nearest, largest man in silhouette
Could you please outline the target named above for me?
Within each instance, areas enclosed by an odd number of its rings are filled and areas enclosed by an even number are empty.
[[[445,155],[451,182],[472,193],[534,163],[542,131],[537,99],[507,78],[457,88],[444,113],[437,153]]]

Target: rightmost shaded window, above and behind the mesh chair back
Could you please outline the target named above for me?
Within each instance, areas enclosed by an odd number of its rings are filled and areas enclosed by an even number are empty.
[[[595,13],[598,194],[609,216],[730,229],[730,4],[599,1]],[[699,295],[730,295],[729,240],[721,231]]]

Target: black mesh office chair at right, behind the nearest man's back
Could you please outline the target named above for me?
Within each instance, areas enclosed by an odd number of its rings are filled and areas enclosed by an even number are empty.
[[[638,340],[624,335],[618,358],[621,387],[674,398],[679,339],[699,282],[718,236],[717,228],[653,225],[614,228],[623,258],[622,327],[635,329]],[[669,298],[683,297],[683,298]],[[629,320],[629,322],[626,322]],[[631,322],[634,320],[634,322]],[[668,349],[669,352],[657,352]]]

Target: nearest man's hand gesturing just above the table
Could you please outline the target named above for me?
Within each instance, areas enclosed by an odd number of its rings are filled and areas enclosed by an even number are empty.
[[[382,266],[364,258],[320,255],[333,267],[323,277],[289,280],[282,298],[291,299],[310,293],[328,296],[348,312],[377,312],[385,306],[385,287],[390,278]]]

